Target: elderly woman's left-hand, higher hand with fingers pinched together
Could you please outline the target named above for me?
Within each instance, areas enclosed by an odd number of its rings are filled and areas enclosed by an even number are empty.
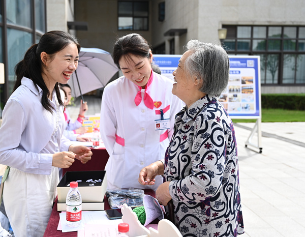
[[[141,169],[138,181],[141,185],[154,185],[156,181],[155,177],[157,175],[162,175],[163,170],[163,162],[156,161]]]

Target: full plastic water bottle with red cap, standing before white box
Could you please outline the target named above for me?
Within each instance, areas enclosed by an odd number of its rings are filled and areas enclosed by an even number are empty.
[[[77,227],[81,223],[81,195],[77,187],[77,182],[70,182],[66,198],[66,220],[70,227]]]

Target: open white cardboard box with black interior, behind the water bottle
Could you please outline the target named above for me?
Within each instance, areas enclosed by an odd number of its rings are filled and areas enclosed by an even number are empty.
[[[89,186],[87,180],[101,179],[101,183],[94,183],[95,186]],[[66,203],[67,194],[70,190],[70,182],[81,180],[78,182],[78,190],[81,195],[82,202],[104,202],[104,196],[107,188],[106,171],[67,171],[57,185],[57,198],[59,203]]]

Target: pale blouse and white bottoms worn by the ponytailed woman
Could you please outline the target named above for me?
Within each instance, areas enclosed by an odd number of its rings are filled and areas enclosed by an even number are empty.
[[[3,110],[0,163],[11,166],[3,200],[16,237],[43,236],[59,181],[52,155],[71,145],[62,137],[64,107],[56,106],[55,91],[53,114],[43,108],[41,96],[41,88],[24,77]]]

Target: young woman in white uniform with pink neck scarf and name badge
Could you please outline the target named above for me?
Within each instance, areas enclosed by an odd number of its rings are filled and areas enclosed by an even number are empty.
[[[100,131],[109,154],[107,189],[143,188],[139,171],[164,158],[175,114],[183,104],[171,93],[174,81],[151,70],[153,54],[142,36],[119,38],[113,58],[124,76],[110,82],[102,97]],[[160,175],[155,180],[147,188],[156,190],[163,183]]]

